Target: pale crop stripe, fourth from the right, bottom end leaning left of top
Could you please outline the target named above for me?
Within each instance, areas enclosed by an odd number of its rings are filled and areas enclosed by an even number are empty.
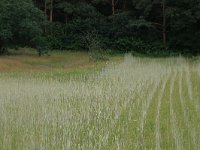
[[[161,108],[161,103],[162,103],[162,98],[163,98],[163,94],[165,91],[165,87],[167,84],[167,80],[168,80],[168,76],[165,77],[164,81],[163,81],[163,85],[161,87],[161,92],[158,96],[158,105],[157,105],[157,110],[156,110],[156,120],[155,120],[155,149],[156,150],[160,150],[160,138],[161,138],[161,133],[160,133],[160,108]]]

